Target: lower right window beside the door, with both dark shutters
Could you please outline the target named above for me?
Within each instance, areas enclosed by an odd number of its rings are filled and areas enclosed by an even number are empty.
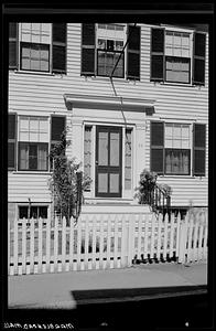
[[[184,124],[151,122],[151,171],[159,174],[205,175],[205,125],[193,126],[192,150],[191,126]]]

